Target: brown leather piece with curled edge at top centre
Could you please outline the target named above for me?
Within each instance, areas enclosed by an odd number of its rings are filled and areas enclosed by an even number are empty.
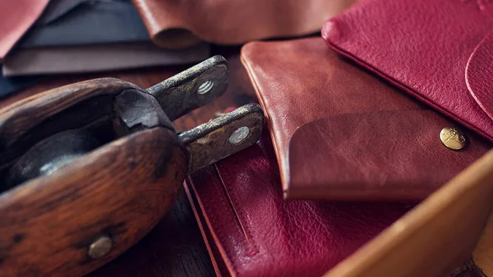
[[[303,36],[355,0],[132,0],[160,47]]]

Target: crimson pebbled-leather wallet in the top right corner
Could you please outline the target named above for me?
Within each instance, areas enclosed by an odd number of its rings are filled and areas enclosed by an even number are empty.
[[[493,3],[364,0],[330,19],[329,46],[493,140]]]

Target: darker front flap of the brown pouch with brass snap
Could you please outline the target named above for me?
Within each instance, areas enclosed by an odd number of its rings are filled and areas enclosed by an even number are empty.
[[[305,124],[289,144],[289,194],[329,200],[420,200],[490,149],[471,132],[462,150],[446,148],[434,111],[378,111]]]

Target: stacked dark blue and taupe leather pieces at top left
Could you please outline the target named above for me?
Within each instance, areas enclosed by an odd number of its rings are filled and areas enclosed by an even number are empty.
[[[98,72],[192,64],[210,46],[155,46],[131,1],[51,0],[34,26],[5,57],[3,75]]]

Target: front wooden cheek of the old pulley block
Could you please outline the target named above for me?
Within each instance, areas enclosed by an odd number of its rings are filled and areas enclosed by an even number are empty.
[[[0,276],[82,276],[114,259],[170,209],[186,168],[176,133],[155,128],[3,193]]]

